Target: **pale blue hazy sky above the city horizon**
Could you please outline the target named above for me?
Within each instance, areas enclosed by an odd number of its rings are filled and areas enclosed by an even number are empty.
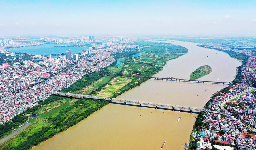
[[[69,34],[256,36],[256,0],[0,0],[0,36]]]

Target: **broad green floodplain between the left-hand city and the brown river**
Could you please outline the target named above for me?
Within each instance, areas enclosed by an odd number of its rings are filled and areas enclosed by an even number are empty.
[[[152,76],[160,71],[167,61],[188,52],[182,46],[169,43],[136,41],[134,44],[139,44],[140,47],[124,49],[121,53],[114,54],[116,60],[124,60],[119,66],[114,66],[115,64],[108,66],[100,73]],[[115,98],[146,80],[148,79],[140,77],[86,74],[76,83],[61,91]],[[108,102],[103,100],[51,95],[44,101],[39,101],[39,105],[33,109],[28,108],[5,125],[0,125],[0,136],[3,137],[14,128],[27,122],[28,116],[31,114],[38,114],[37,117],[29,118],[28,122],[31,124],[18,135],[1,144],[0,149],[30,149],[77,124],[106,104]]]

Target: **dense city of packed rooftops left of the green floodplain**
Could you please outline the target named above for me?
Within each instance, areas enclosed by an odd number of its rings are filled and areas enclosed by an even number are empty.
[[[66,56],[51,58],[50,55],[26,55],[25,59],[22,59],[25,54],[15,54],[4,49],[3,54],[9,56],[4,60],[9,60],[10,63],[3,63],[0,72],[0,124],[8,122],[28,107],[36,106],[39,100],[44,101],[49,97],[44,91],[67,88],[86,74],[83,70],[99,71],[116,61],[113,53],[138,46],[124,43],[107,44],[106,48],[93,46],[89,53],[89,50],[84,50],[79,62],[68,60]],[[19,61],[12,62],[17,58]]]

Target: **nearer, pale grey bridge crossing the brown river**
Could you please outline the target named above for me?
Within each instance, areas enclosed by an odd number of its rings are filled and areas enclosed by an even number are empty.
[[[116,102],[123,102],[124,105],[126,103],[132,103],[132,104],[138,104],[140,107],[141,105],[151,105],[155,106],[157,109],[158,107],[169,107],[172,108],[172,110],[176,109],[187,109],[190,110],[190,113],[194,111],[203,111],[203,112],[213,112],[216,113],[215,111],[209,111],[209,109],[205,108],[198,108],[198,107],[188,107],[188,106],[180,106],[180,105],[171,105],[171,104],[162,104],[162,103],[154,103],[154,102],[144,102],[144,101],[137,101],[137,100],[124,100],[124,99],[116,99],[116,98],[107,98],[107,97],[100,97],[100,96],[92,96],[92,95],[83,95],[83,94],[72,94],[72,93],[63,93],[63,92],[54,92],[54,91],[45,91],[44,93],[48,94],[55,94],[55,95],[64,95],[64,96],[70,96],[70,97],[80,97],[80,98],[88,98],[88,99],[99,99],[99,100],[107,100],[110,103],[112,101]],[[220,114],[220,113],[218,113]]]

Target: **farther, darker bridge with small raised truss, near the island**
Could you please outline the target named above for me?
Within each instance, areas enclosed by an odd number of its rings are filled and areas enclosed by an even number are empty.
[[[173,78],[173,77],[162,78],[162,77],[149,77],[149,76],[136,76],[136,75],[102,74],[102,73],[89,73],[89,74],[108,75],[108,76],[117,75],[117,76],[127,76],[127,77],[148,78],[148,79],[154,79],[154,80],[167,80],[167,81],[180,81],[180,82],[193,82],[193,83],[212,83],[212,84],[228,84],[228,85],[232,83],[232,82],[179,79],[179,78]]]

